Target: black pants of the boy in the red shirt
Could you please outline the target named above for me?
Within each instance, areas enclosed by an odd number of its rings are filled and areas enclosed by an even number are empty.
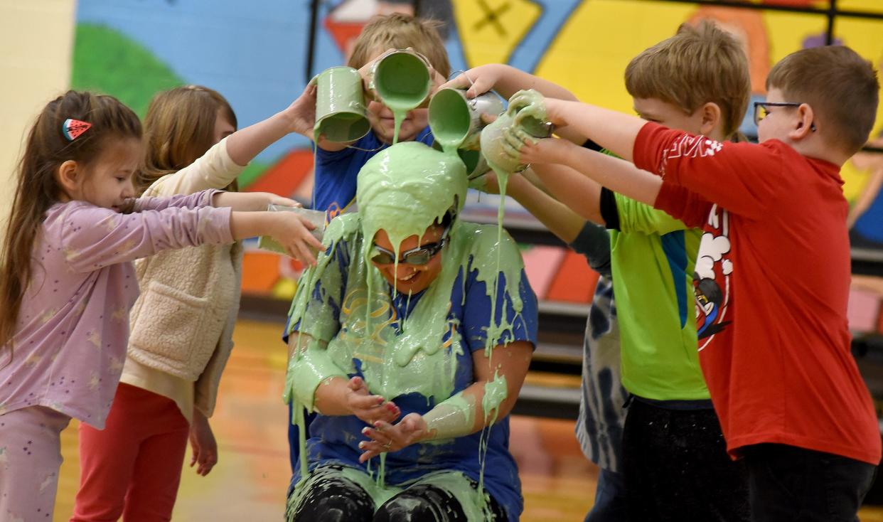
[[[754,522],[852,522],[877,466],[785,444],[743,448]]]

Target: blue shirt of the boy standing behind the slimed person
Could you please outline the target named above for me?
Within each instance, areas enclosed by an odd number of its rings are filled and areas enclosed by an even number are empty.
[[[415,140],[431,146],[433,134],[429,127],[420,131]],[[383,143],[371,131],[343,150],[329,152],[316,148],[313,208],[325,210],[328,220],[343,214],[356,199],[358,171],[381,149],[388,147],[389,144]]]

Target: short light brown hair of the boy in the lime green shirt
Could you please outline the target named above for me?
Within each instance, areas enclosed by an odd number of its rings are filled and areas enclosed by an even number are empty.
[[[625,88],[635,98],[671,103],[686,114],[714,102],[721,108],[724,134],[730,135],[748,109],[748,58],[713,21],[682,24],[677,34],[632,58],[625,68]]]

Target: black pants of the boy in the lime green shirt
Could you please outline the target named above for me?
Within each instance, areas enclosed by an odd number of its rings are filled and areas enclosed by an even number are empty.
[[[748,521],[748,477],[727,455],[713,409],[631,401],[623,429],[623,478],[633,522]]]

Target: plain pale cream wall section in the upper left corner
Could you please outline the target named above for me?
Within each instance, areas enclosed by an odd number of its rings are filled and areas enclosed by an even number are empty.
[[[74,0],[0,0],[0,216],[27,130],[71,80]],[[4,225],[5,226],[5,225]],[[0,235],[3,231],[0,231]]]

